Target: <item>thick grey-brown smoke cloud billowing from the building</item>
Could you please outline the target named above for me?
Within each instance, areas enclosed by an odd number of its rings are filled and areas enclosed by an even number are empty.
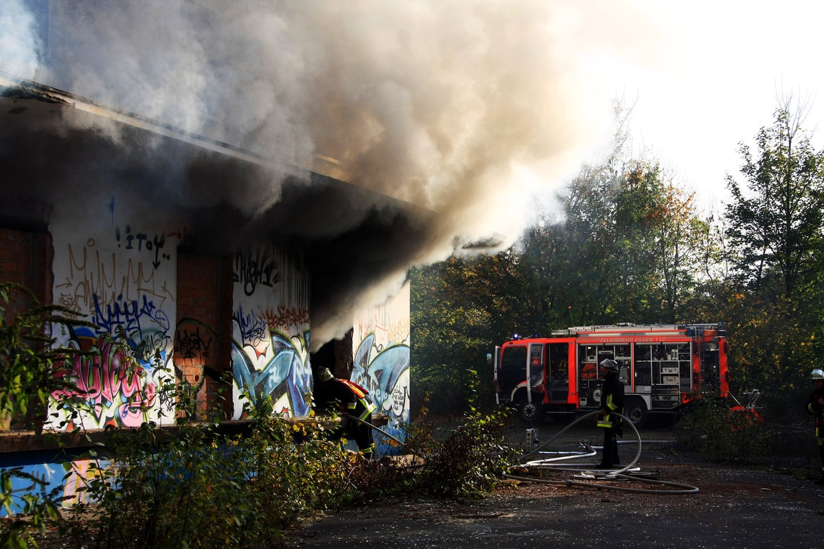
[[[517,238],[530,204],[551,198],[604,142],[614,91],[595,67],[655,49],[657,26],[639,6],[4,0],[0,71],[368,189],[361,204],[337,205],[349,215],[303,232],[338,235],[349,247],[321,254],[363,263],[330,286],[322,340],[349,321],[347,307],[381,297],[363,293],[365,281],[389,292],[413,264]],[[258,229],[275,223],[261,212],[277,210],[284,180],[252,170],[240,190],[187,193],[193,174],[209,184],[187,161],[163,177],[169,196],[230,202]],[[382,195],[428,214],[400,216]],[[358,226],[387,234],[358,255]]]

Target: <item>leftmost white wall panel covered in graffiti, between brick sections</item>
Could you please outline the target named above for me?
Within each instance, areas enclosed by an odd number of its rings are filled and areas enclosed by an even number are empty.
[[[103,238],[61,242],[76,229],[55,230],[54,294],[59,305],[93,327],[54,327],[59,346],[84,351],[63,364],[77,391],[54,394],[52,426],[139,426],[162,414],[157,388],[171,359],[175,318],[175,263],[170,250],[185,231],[133,230],[112,224]],[[91,230],[91,229],[90,229]],[[126,356],[128,355],[128,356]],[[87,410],[70,419],[60,398]],[[171,404],[163,405],[171,406]]]

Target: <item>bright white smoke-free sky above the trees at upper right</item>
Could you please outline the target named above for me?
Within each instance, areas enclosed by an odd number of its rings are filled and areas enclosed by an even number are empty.
[[[824,2],[638,3],[651,26],[627,32],[660,33],[652,40],[660,49],[643,61],[613,58],[606,85],[635,101],[636,150],[650,151],[695,189],[701,207],[728,199],[724,174],[744,183],[738,143],[752,145],[758,129],[772,123],[778,97],[812,105],[804,128],[824,123]],[[821,137],[814,133],[816,147]]]

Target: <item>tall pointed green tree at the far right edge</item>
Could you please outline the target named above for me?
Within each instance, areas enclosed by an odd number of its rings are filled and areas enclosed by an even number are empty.
[[[801,128],[804,109],[786,100],[756,148],[741,146],[742,188],[728,177],[730,360],[739,381],[765,391],[765,407],[784,420],[781,402],[808,392],[822,351],[824,156]]]

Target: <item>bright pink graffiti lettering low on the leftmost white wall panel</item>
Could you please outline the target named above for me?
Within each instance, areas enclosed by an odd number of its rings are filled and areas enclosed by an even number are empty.
[[[157,397],[157,387],[141,387],[143,367],[111,342],[98,340],[91,354],[75,356],[71,366],[56,365],[58,375],[70,375],[75,389],[52,393],[55,399],[81,398],[91,408],[98,424],[140,426],[143,412]],[[68,367],[67,367],[68,366]]]

